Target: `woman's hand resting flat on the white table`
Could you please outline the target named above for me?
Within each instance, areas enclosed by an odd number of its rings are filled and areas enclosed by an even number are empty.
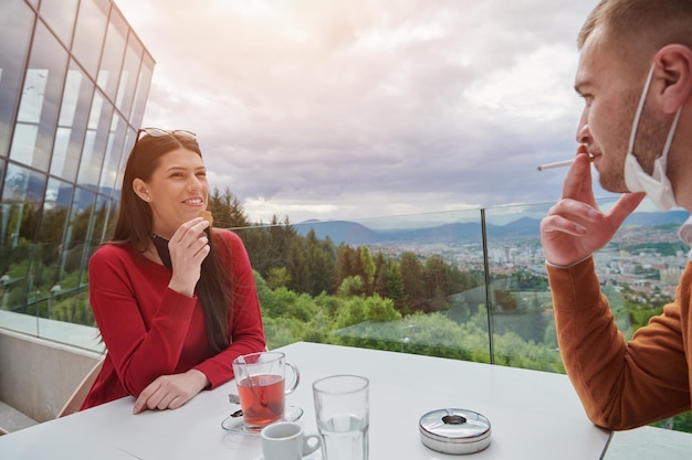
[[[207,376],[195,368],[184,374],[161,375],[141,391],[133,414],[148,409],[177,409],[208,385]]]

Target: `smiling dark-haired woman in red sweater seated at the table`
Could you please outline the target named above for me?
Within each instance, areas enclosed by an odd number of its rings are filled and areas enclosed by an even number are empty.
[[[175,409],[264,350],[240,238],[199,215],[209,183],[196,136],[140,129],[113,240],[92,256],[90,301],[107,349],[82,408],[135,396],[133,411]]]

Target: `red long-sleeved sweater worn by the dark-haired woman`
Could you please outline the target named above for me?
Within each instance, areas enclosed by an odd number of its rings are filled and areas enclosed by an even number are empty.
[[[171,271],[135,254],[130,245],[106,244],[88,264],[90,300],[107,349],[103,370],[82,408],[139,393],[160,375],[196,368],[214,388],[233,378],[235,356],[264,350],[264,331],[254,278],[241,239],[213,231],[231,254],[234,278],[231,344],[214,353],[207,339],[197,296],[168,288]],[[223,252],[222,252],[223,253]]]

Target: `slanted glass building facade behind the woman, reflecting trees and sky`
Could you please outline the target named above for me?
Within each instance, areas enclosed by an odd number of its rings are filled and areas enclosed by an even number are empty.
[[[155,62],[112,0],[0,0],[0,310],[93,324]]]

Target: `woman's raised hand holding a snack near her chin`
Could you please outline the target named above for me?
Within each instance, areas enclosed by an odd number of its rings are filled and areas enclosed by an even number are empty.
[[[209,255],[209,239],[205,229],[209,226],[202,217],[195,217],[180,225],[168,242],[172,277],[168,287],[184,296],[192,297],[199,281],[202,261]]]

